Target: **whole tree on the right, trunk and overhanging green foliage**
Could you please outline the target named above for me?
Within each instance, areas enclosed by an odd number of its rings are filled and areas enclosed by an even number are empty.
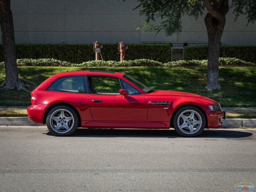
[[[138,0],[140,15],[145,15],[141,28],[146,31],[164,30],[167,36],[182,31],[181,17],[185,14],[198,19],[207,10],[204,23],[208,34],[207,90],[220,89],[218,82],[218,65],[221,36],[226,24],[225,15],[229,7],[234,8],[235,20],[239,15],[247,15],[247,25],[256,20],[256,0]],[[150,21],[160,18],[161,22]]]

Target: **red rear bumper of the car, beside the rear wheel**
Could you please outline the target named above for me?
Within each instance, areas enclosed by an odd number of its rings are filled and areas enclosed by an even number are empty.
[[[29,119],[38,124],[43,124],[44,113],[49,105],[31,105],[27,108]]]

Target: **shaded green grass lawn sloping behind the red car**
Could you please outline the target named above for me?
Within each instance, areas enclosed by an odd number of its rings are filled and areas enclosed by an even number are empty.
[[[21,80],[40,84],[51,74],[74,70],[108,70],[124,72],[158,90],[196,93],[218,101],[222,107],[256,107],[256,67],[219,67],[221,90],[209,93],[207,67],[18,67]],[[5,69],[0,67],[0,83]],[[26,84],[30,84],[25,81]],[[29,90],[35,85],[30,84]],[[29,106],[30,93],[0,90],[0,105]]]

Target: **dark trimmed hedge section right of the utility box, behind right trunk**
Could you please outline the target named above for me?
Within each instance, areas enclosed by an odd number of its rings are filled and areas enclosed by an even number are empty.
[[[186,46],[184,52],[186,60],[204,60],[207,59],[208,46]],[[222,45],[220,57],[239,58],[256,63],[256,46]]]

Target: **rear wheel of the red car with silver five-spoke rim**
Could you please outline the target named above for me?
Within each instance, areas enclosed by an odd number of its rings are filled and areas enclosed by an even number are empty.
[[[56,106],[47,114],[46,125],[55,136],[67,136],[76,131],[78,117],[68,106]]]

